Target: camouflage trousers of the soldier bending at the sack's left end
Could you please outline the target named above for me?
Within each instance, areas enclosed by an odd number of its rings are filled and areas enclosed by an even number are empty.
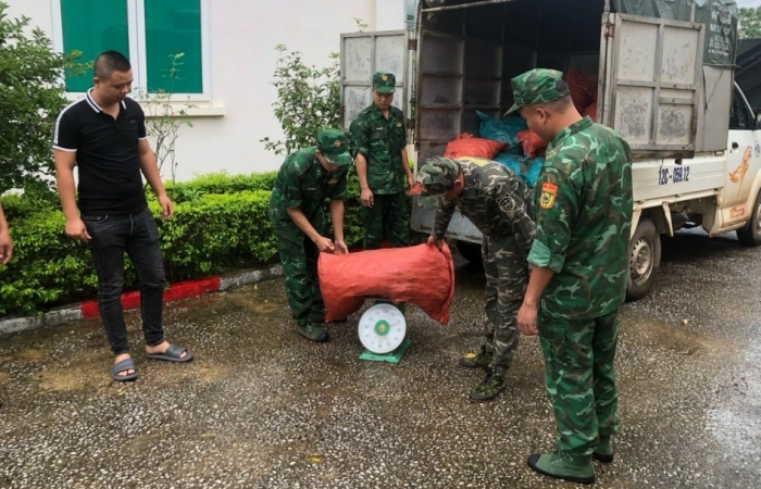
[[[310,222],[322,234],[322,214]],[[283,263],[286,299],[294,319],[299,326],[305,326],[310,321],[322,323],[325,303],[317,278],[317,247],[294,223],[273,223],[273,230]]]

